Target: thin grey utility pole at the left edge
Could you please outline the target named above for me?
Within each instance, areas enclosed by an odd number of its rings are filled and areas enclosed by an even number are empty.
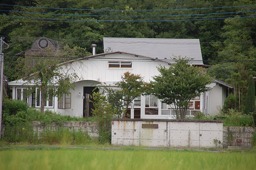
[[[0,61],[1,61],[1,74],[0,74],[0,139],[1,139],[1,131],[2,131],[2,111],[3,111],[3,44],[7,45],[7,49],[9,45],[3,41],[3,37],[1,37],[1,44],[0,44]]]

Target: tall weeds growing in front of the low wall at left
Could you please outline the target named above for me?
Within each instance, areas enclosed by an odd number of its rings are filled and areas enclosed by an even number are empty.
[[[84,145],[91,142],[88,132],[81,129],[72,129],[58,127],[54,129],[52,126],[46,127],[42,132],[34,132],[29,123],[17,123],[14,126],[7,124],[5,126],[5,134],[2,137],[2,144],[60,144],[67,145]]]

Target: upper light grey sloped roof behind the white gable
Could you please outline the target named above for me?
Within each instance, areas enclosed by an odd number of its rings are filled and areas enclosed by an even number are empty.
[[[193,58],[194,65],[202,65],[199,39],[163,38],[103,38],[104,51],[127,52],[173,62],[174,56]]]

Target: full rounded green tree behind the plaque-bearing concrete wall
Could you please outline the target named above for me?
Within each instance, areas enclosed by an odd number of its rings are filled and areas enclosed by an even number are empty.
[[[174,105],[177,119],[184,119],[191,99],[208,91],[212,78],[200,68],[190,65],[189,58],[174,58],[169,68],[158,67],[159,76],[154,76],[152,93],[163,103]]]

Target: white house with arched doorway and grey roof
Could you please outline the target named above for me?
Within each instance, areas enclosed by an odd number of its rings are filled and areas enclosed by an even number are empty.
[[[117,38],[114,38],[111,41],[110,38],[106,39],[110,43],[113,43],[115,42],[114,39]],[[119,44],[115,42],[114,45],[110,46],[110,44],[105,43],[106,39],[104,38],[104,49],[114,50],[117,44]],[[90,109],[92,104],[88,102],[88,96],[89,94],[92,94],[94,88],[104,82],[107,83],[107,85],[113,86],[114,82],[120,81],[121,76],[126,71],[130,71],[134,74],[140,74],[146,82],[150,82],[153,80],[152,76],[159,74],[157,70],[159,65],[169,67],[170,62],[173,62],[170,57],[173,57],[173,55],[177,56],[179,45],[182,47],[182,49],[191,48],[192,51],[190,56],[189,49],[186,49],[186,52],[181,50],[180,56],[194,57],[195,62],[192,64],[203,65],[199,40],[192,41],[191,39],[177,40],[143,38],[137,39],[137,43],[133,44],[137,46],[138,42],[141,40],[143,42],[148,40],[152,42],[152,44],[155,42],[154,49],[146,49],[146,47],[139,46],[138,48],[141,49],[135,51],[134,49],[136,49],[136,47],[129,47],[133,53],[124,52],[125,50],[119,50],[115,52],[96,54],[70,61],[70,67],[75,68],[76,74],[79,77],[79,80],[75,82],[75,90],[70,90],[70,93],[64,94],[61,99],[52,97],[51,101],[46,102],[45,109],[50,109],[59,112],[62,115],[71,115],[74,117],[85,116],[86,112],[87,114],[91,115]],[[157,42],[160,40],[165,43],[159,44],[158,46]],[[122,40],[119,42],[129,46],[129,43],[123,43],[124,41],[126,41],[126,39],[122,38]],[[126,42],[128,42],[128,39]],[[130,43],[130,45],[131,44],[132,43]],[[173,46],[172,48],[174,48],[173,52],[169,52],[169,57],[167,52],[161,53],[161,50],[158,50],[158,47],[161,46],[162,48],[162,46],[166,44]],[[186,48],[184,46],[186,46]],[[165,46],[162,51],[165,49],[172,51],[167,46]],[[152,53],[154,51],[158,52],[154,54],[154,57],[146,56],[149,55],[146,53],[149,50],[152,50]],[[144,55],[139,53],[143,53]],[[26,100],[29,106],[40,108],[40,94],[37,94],[37,91],[35,91],[35,93],[32,94],[28,99],[23,99],[22,92],[26,89],[26,86],[23,84],[23,80],[9,82],[9,86],[12,88],[12,98],[17,100]],[[187,111],[187,115],[192,116],[199,111],[207,115],[215,114],[218,112],[218,107],[223,106],[224,100],[228,94],[228,88],[232,88],[232,86],[216,79],[209,85],[209,87],[210,91],[207,91],[201,94],[201,96],[198,96],[197,98],[190,101],[190,107]],[[137,97],[131,104],[128,112],[130,112],[131,118],[175,118],[174,110],[172,110],[169,105],[161,103],[161,101],[153,95]]]

